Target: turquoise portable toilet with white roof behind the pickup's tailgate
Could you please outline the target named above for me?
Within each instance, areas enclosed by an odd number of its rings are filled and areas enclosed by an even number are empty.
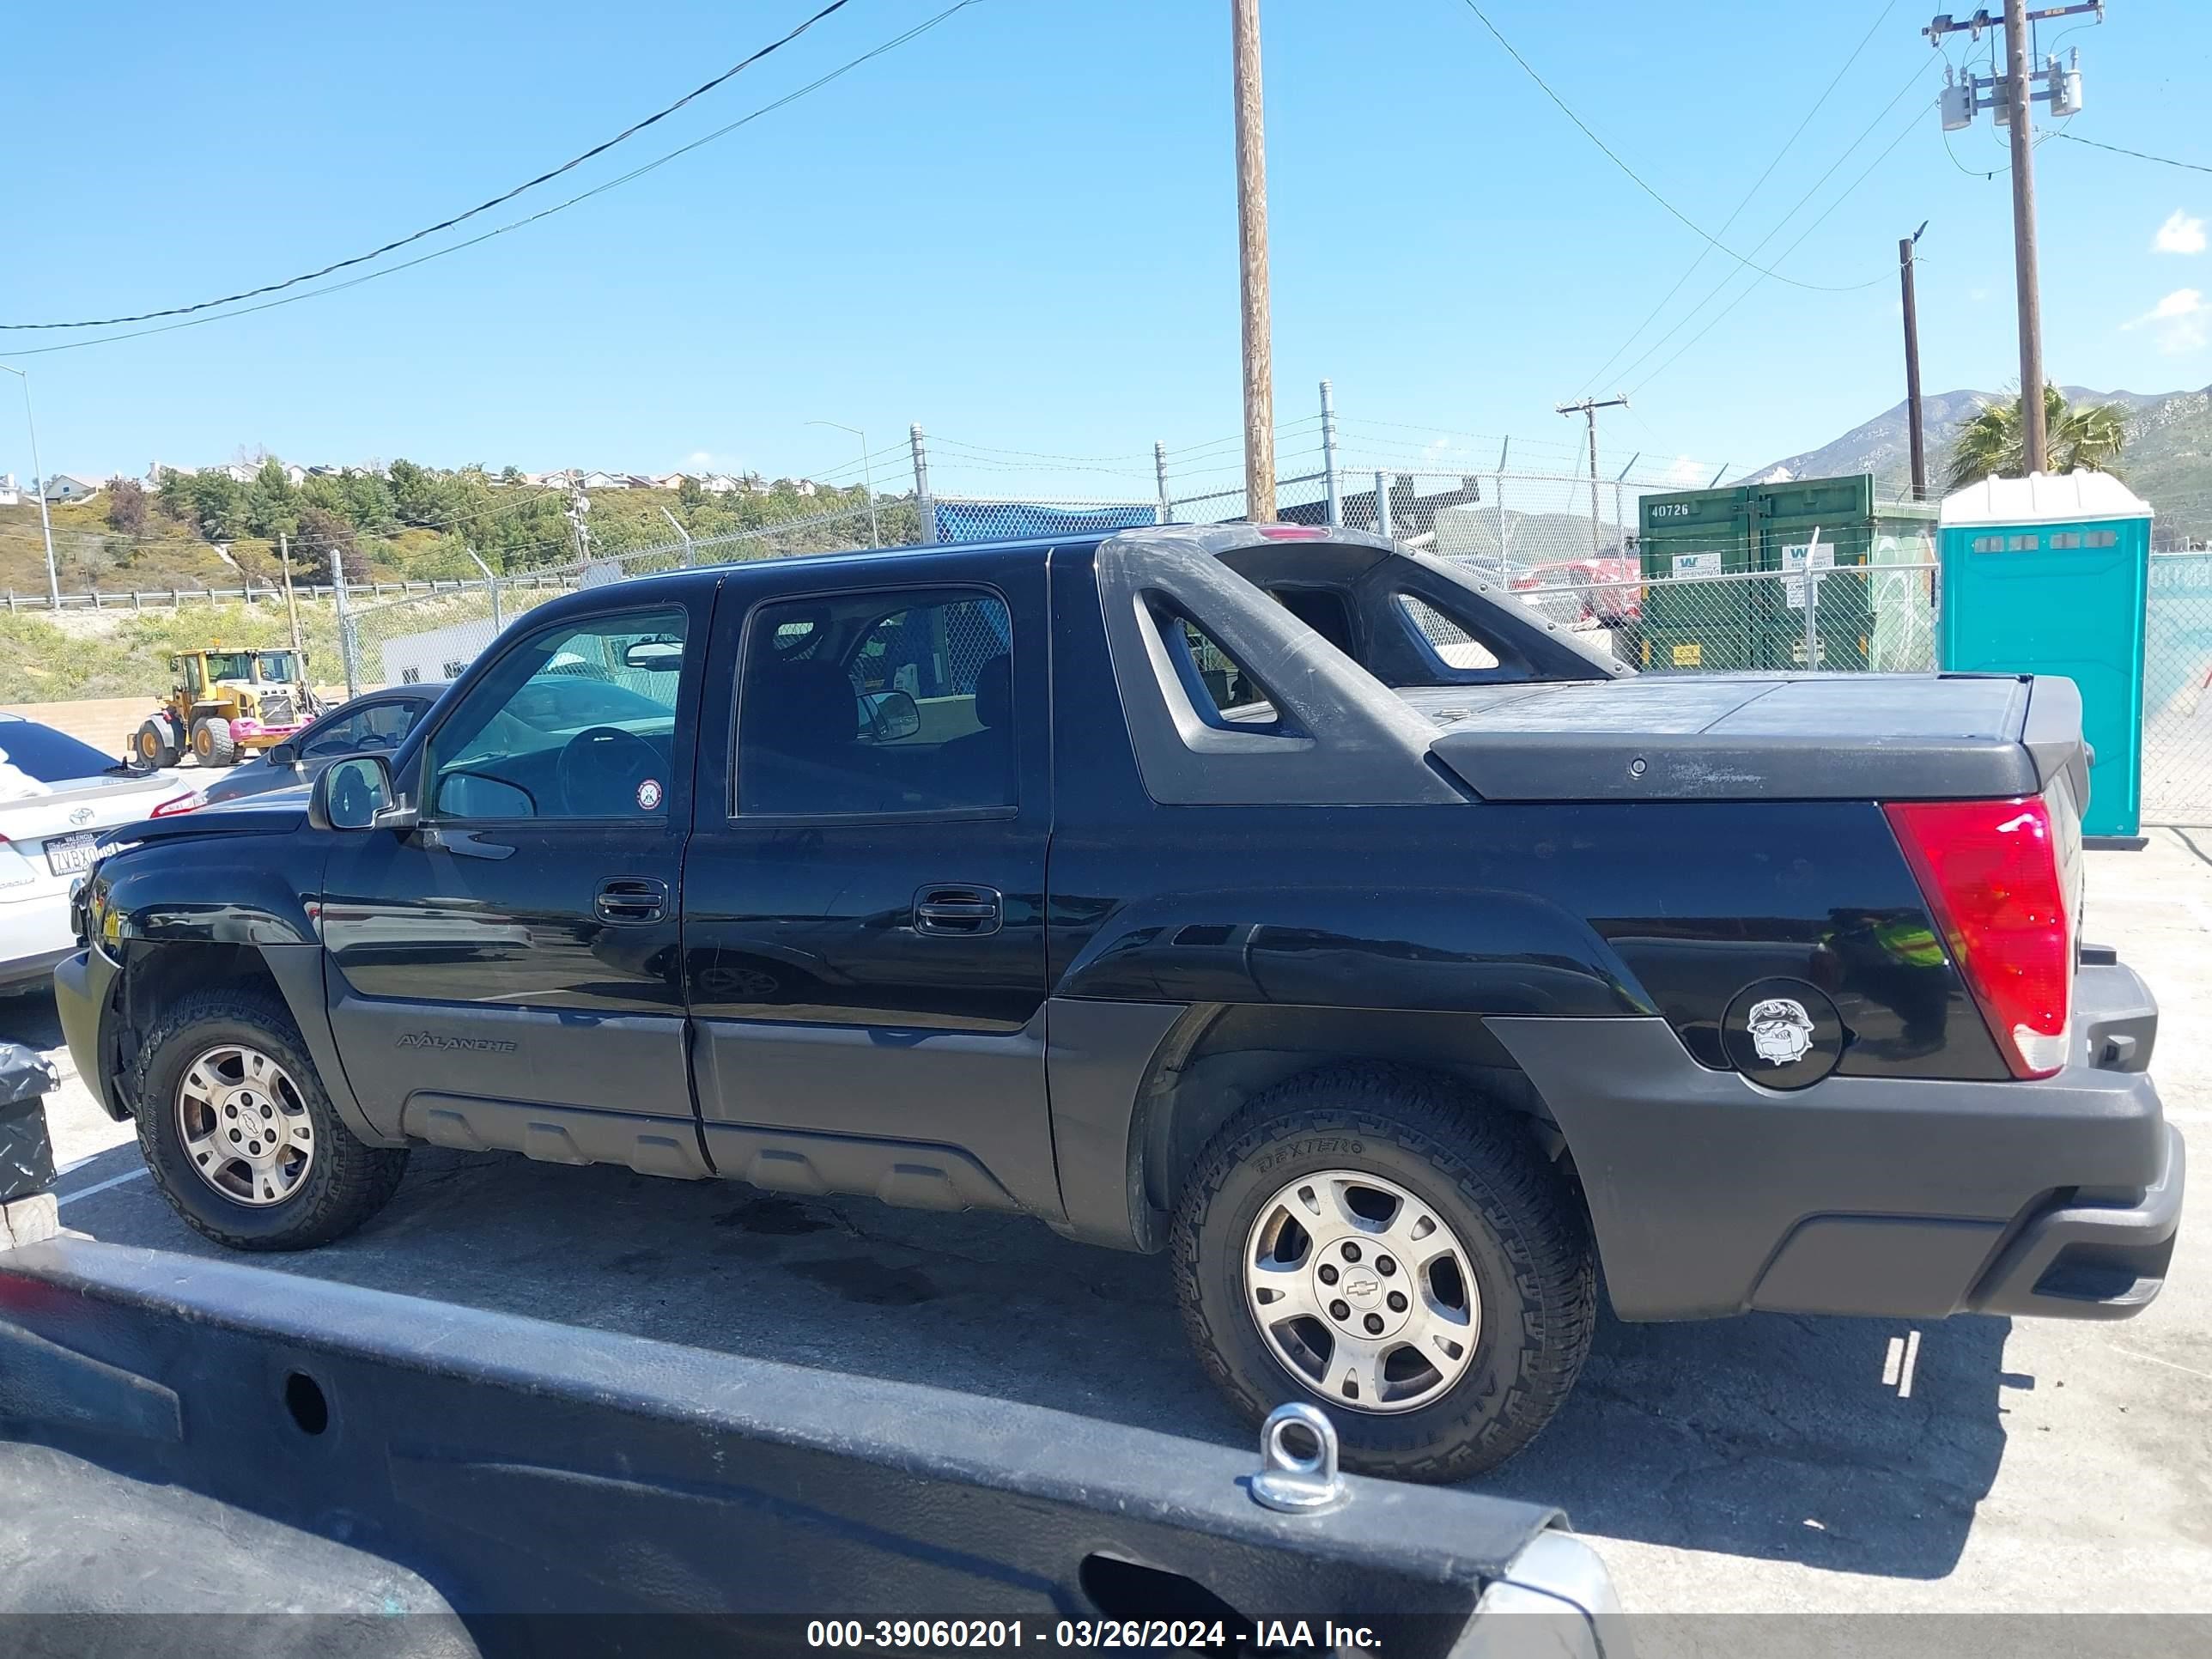
[[[2086,836],[2135,836],[2143,799],[2150,507],[2110,473],[1984,478],[1940,518],[1940,666],[2081,688]]]

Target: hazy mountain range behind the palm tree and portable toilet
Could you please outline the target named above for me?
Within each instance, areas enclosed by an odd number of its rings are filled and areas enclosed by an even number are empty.
[[[2137,495],[2157,511],[2159,546],[2212,540],[2212,387],[2197,392],[2093,392],[2059,387],[2068,403],[2117,403],[2128,411],[2128,447],[2119,473]],[[1927,425],[1929,493],[1942,491],[1951,438],[1982,405],[2000,403],[1997,392],[1936,392],[1922,396]],[[1840,438],[1785,456],[1736,482],[1774,482],[1781,478],[1836,478],[1874,473],[1882,493],[1905,493],[1911,484],[1911,440],[1905,429],[1905,405],[1885,409],[1874,420],[1851,427]]]

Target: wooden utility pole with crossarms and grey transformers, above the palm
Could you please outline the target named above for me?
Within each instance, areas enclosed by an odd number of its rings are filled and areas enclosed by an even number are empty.
[[[1973,126],[1973,117],[1984,108],[2002,111],[2002,124],[2013,148],[2013,281],[2020,312],[2020,436],[2031,473],[2044,471],[2051,460],[2051,434],[2044,414],[2044,296],[2035,274],[2035,135],[2028,126],[2031,106],[2042,100],[2051,104],[2055,117],[2075,115],[2081,108],[2081,53],[2073,53],[2070,66],[2059,66],[2057,55],[2044,60],[2042,69],[2028,69],[2028,24],[2053,18],[2097,13],[2104,22],[2104,0],[2075,0],[2075,4],[2042,7],[2028,11],[2028,0],[2004,0],[2004,75],[1991,80],[1966,71],[1953,82],[1944,71],[1942,128],[1955,133]],[[1993,27],[1989,9],[1982,7],[1971,18],[1953,20],[1949,13],[1929,22],[1924,33],[1929,44],[1942,51],[1944,35],[1964,29],[1980,40]],[[2044,82],[2037,91],[2035,82]],[[1984,97],[1986,93],[1986,97]]]

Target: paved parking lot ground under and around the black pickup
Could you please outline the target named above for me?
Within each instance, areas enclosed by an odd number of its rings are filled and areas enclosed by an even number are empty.
[[[2159,993],[2152,1071],[2203,1164],[2212,834],[2093,854],[2088,936]],[[0,1002],[0,1037],[69,1075],[64,1223],[212,1254],[75,1082],[51,998]],[[2212,1175],[2188,1203],[2168,1290],[2130,1323],[1606,1321],[1566,1411],[1482,1484],[1562,1504],[1635,1613],[2212,1613]],[[1248,1440],[1164,1261],[1026,1221],[418,1150],[361,1234],[261,1261]]]

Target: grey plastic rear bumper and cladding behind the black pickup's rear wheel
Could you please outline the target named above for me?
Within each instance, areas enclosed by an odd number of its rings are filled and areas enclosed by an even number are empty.
[[[1699,1066],[1661,1020],[1489,1024],[1566,1135],[1621,1318],[2128,1318],[2166,1281],[2185,1152],[2143,982],[2090,962],[2077,1004],[2055,1077],[1796,1093]]]

